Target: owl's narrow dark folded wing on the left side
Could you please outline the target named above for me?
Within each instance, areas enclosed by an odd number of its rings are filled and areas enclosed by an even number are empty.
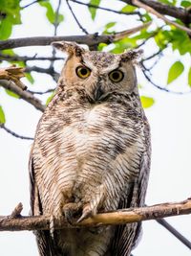
[[[31,154],[31,159],[30,159],[30,190],[31,190],[32,216],[43,215],[42,203],[41,203],[39,191],[37,188],[37,184],[35,182],[32,154]],[[56,251],[56,247],[54,246],[53,239],[50,235],[49,230],[34,231],[34,234],[36,236],[36,241],[38,244],[38,251],[39,251],[40,256],[58,256],[58,255],[60,255]]]

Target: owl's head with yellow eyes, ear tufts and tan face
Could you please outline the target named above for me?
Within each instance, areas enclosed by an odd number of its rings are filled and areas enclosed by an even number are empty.
[[[115,55],[91,52],[73,42],[57,41],[52,44],[68,54],[60,76],[66,88],[83,88],[94,102],[114,92],[137,92],[135,60],[140,51]]]

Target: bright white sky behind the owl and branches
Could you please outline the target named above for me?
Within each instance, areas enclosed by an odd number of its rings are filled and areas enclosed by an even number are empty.
[[[23,1],[27,2],[28,1]],[[56,1],[54,1],[55,3]],[[74,6],[74,5],[73,5]],[[107,6],[106,1],[102,6]],[[122,4],[117,7],[120,9]],[[58,35],[79,35],[81,32],[77,28],[72,16],[66,12],[66,6],[61,7],[65,13],[65,23],[58,28]],[[90,20],[89,12],[77,6],[74,12],[83,13],[78,15],[82,24],[89,32],[100,31],[106,21],[113,21],[114,15],[105,13],[104,19],[102,12],[98,12],[96,22]],[[35,13],[35,18],[33,16]],[[33,5],[26,9],[22,14],[22,26],[17,26],[12,37],[53,35],[53,28],[45,21],[44,9],[39,9]],[[116,16],[119,25],[118,30],[124,30],[136,26],[131,19],[123,16]],[[159,21],[156,21],[157,23]],[[154,24],[155,25],[155,24]],[[147,46],[145,56],[150,55],[151,49],[155,51],[154,45]],[[19,48],[16,53],[21,55],[43,56],[52,52],[51,47],[30,47]],[[163,84],[167,80],[169,66],[173,61],[179,60],[177,52],[167,50],[168,58],[160,60],[158,68],[153,75],[153,80]],[[60,53],[57,53],[60,56]],[[189,61],[188,56],[182,58],[184,63]],[[37,62],[36,62],[37,64]],[[45,63],[45,66],[48,63]],[[56,64],[57,71],[60,71],[63,63]],[[53,87],[54,83],[50,77],[32,74],[35,84],[30,88],[44,90],[47,84]],[[187,89],[182,86],[185,78],[182,75],[172,84],[172,89]],[[24,80],[25,81],[25,80]],[[28,83],[27,81],[25,81]],[[170,94],[154,88],[146,81],[138,69],[138,83],[143,85],[140,93],[155,99],[155,105],[145,110],[151,126],[152,134],[152,166],[149,186],[147,191],[146,203],[149,205],[167,202],[180,201],[190,197],[191,180],[191,94],[176,95]],[[180,88],[179,88],[180,84]],[[35,86],[35,87],[34,87]],[[15,132],[33,136],[41,112],[35,110],[32,105],[24,103],[22,100],[10,99],[0,88],[0,103],[3,105],[7,116],[7,127]],[[4,130],[0,130],[0,215],[11,214],[13,208],[22,202],[24,205],[23,215],[28,215],[30,210],[29,203],[29,175],[28,160],[32,146],[32,141],[23,141],[12,137]],[[190,223],[191,216],[180,216],[167,219],[181,233],[191,241]],[[32,232],[0,232],[0,255],[1,256],[37,256],[37,248]],[[143,237],[134,251],[134,256],[188,256],[190,250],[161,227],[156,221],[144,221]]]

